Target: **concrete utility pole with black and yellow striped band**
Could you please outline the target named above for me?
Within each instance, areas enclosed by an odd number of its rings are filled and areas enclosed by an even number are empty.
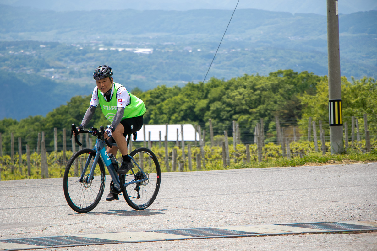
[[[337,0],[327,0],[327,51],[330,149],[331,154],[340,154],[344,151],[344,148]]]

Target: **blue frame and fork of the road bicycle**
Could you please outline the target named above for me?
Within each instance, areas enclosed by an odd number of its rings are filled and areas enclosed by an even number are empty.
[[[113,143],[109,143],[109,144],[112,145],[112,146],[116,146],[116,144],[113,144]],[[110,160],[110,157],[107,154],[106,149],[104,147],[104,141],[97,138],[97,141],[96,141],[96,143],[95,143],[95,145],[93,147],[93,150],[96,151],[96,154],[95,154],[95,157],[94,157],[93,165],[92,165],[92,167],[90,167],[90,173],[89,173],[89,175],[87,177],[87,181],[92,180],[93,173],[94,173],[94,170],[95,170],[95,166],[97,165],[97,162],[98,162],[98,159],[100,158],[100,156],[101,156],[102,160],[104,161],[105,166],[107,167],[107,170],[109,171],[110,176],[111,176],[111,178],[113,180],[114,187],[117,190],[121,190],[123,187],[127,187],[127,186],[129,186],[131,184],[139,183],[139,182],[143,182],[143,181],[147,180],[147,178],[144,178],[142,180],[135,180],[135,179],[133,179],[130,182],[121,184],[119,176],[116,173],[115,168],[114,168],[114,166],[113,166],[113,164],[112,164],[112,162]],[[87,170],[87,168],[89,166],[89,163],[90,163],[90,160],[92,159],[92,157],[93,157],[92,155],[89,155],[89,157],[86,160],[85,167],[83,169],[83,172],[81,173],[80,182],[84,181],[84,174],[86,173],[86,170]],[[147,177],[147,175],[144,173],[144,171],[140,168],[140,166],[136,163],[136,161],[132,157],[131,157],[131,160],[133,161],[133,163],[135,163],[135,165],[138,167],[138,169],[143,173],[144,177]],[[133,176],[135,177],[135,173],[133,172],[133,170],[132,170],[132,173],[133,173]]]

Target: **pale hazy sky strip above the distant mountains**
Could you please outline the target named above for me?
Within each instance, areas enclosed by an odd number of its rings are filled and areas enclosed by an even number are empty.
[[[0,0],[0,4],[30,6],[54,11],[107,9],[178,10],[234,9],[238,0]],[[340,0],[339,13],[377,10],[377,0]],[[326,15],[326,0],[240,0],[239,9],[252,8],[291,13]]]

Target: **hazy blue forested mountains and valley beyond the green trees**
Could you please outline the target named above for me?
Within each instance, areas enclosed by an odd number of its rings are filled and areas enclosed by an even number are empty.
[[[0,78],[0,88],[14,100],[2,99],[0,119],[45,115],[72,96],[91,94],[90,75],[103,63],[129,90],[202,81],[231,14],[209,9],[56,12],[0,5],[0,69],[8,74]],[[339,30],[342,76],[376,78],[377,11],[340,15]],[[238,9],[208,78],[279,69],[327,75],[326,40],[323,15]],[[19,96],[15,90],[22,90]],[[28,105],[17,105],[22,100]]]

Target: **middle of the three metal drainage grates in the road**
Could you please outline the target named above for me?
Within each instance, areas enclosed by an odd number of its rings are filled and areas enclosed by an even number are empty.
[[[187,228],[187,229],[172,229],[172,230],[154,230],[148,231],[153,233],[162,233],[162,234],[177,234],[193,237],[205,237],[205,236],[238,236],[238,235],[251,235],[258,234],[253,232],[244,232],[236,230],[227,230],[219,228]]]

